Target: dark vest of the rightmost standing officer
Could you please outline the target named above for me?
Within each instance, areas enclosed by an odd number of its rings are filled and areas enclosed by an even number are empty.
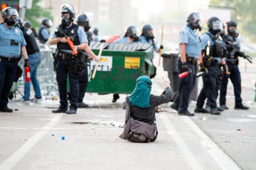
[[[237,58],[237,55],[234,55],[236,51],[239,51],[238,41],[236,41],[235,37],[229,37],[228,35],[223,36],[223,41],[226,43],[226,48],[228,50],[227,58],[231,58],[231,55],[234,58]]]

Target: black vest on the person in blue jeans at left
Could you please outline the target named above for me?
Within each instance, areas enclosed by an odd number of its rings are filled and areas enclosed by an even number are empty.
[[[37,46],[36,38],[33,31],[31,29],[24,28],[24,27],[22,27],[21,30],[23,32],[23,36],[27,43],[26,49],[27,49],[28,55],[39,52],[39,48]]]

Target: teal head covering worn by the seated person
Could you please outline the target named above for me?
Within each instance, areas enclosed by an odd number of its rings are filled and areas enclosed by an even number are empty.
[[[150,107],[151,80],[147,76],[142,75],[136,80],[136,83],[136,87],[130,96],[131,104],[141,108]]]

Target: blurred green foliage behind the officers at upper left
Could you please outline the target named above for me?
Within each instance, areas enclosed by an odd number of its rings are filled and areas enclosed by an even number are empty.
[[[31,27],[36,28],[37,30],[41,27],[41,20],[43,18],[53,19],[53,16],[50,13],[50,8],[43,8],[38,5],[40,0],[33,0],[32,8],[26,10],[25,20],[31,21]]]

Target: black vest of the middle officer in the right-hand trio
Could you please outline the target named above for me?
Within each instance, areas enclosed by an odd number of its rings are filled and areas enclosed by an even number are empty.
[[[208,32],[206,32],[206,34],[210,36],[210,38],[214,43],[214,45],[210,47],[210,55],[213,57],[220,57],[220,58],[226,57],[227,53],[226,53],[225,43],[222,40],[217,39],[217,37],[211,35]]]

